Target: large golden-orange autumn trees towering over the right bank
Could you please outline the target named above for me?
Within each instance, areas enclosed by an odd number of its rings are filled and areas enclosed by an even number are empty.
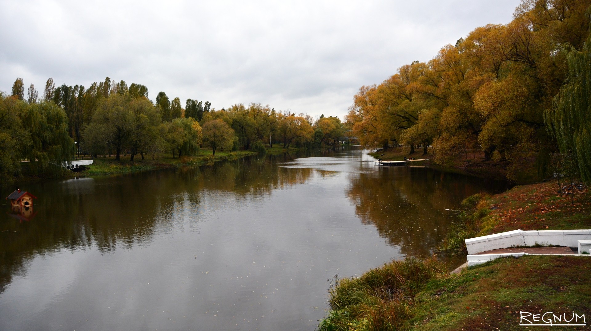
[[[551,124],[550,114],[570,107],[561,90],[565,83],[578,90],[573,79],[580,69],[571,67],[589,66],[590,5],[523,0],[508,24],[478,27],[432,60],[402,65],[381,84],[361,87],[346,120],[365,144],[405,145],[411,153],[432,146],[441,164],[478,152],[484,160],[505,162],[509,178],[543,172],[561,135],[570,139],[559,144],[561,152],[580,150],[572,127]],[[580,105],[584,120],[572,116],[569,123],[589,123],[588,105]],[[579,140],[590,146],[584,137]],[[591,152],[586,155],[591,160]]]

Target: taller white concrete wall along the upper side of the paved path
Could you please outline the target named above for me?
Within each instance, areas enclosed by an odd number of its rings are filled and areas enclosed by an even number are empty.
[[[468,254],[511,246],[560,245],[577,247],[577,240],[591,240],[591,230],[514,230],[466,239]]]

